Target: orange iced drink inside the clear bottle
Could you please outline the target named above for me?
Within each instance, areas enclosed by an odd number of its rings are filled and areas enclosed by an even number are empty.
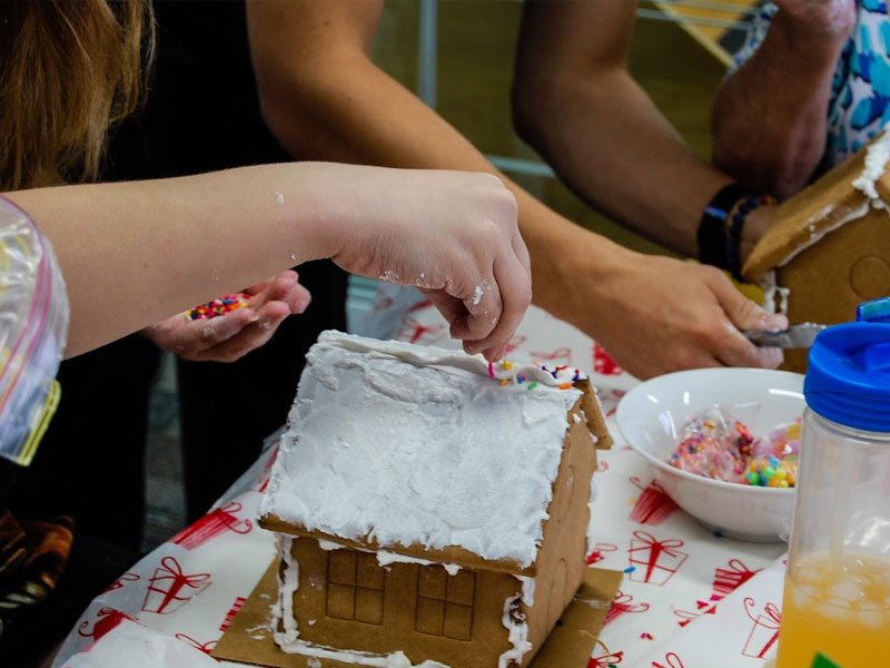
[[[890,666],[890,560],[808,558],[785,579],[777,668]]]

